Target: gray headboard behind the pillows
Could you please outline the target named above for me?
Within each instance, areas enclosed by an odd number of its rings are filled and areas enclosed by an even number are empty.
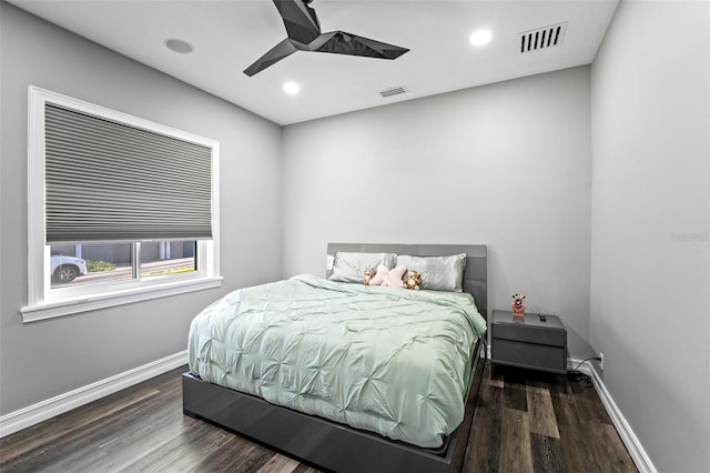
[[[488,251],[485,244],[328,243],[328,255],[334,255],[336,251],[389,252],[414,256],[447,256],[466,253],[464,291],[473,294],[478,312],[484,318],[488,318]]]

